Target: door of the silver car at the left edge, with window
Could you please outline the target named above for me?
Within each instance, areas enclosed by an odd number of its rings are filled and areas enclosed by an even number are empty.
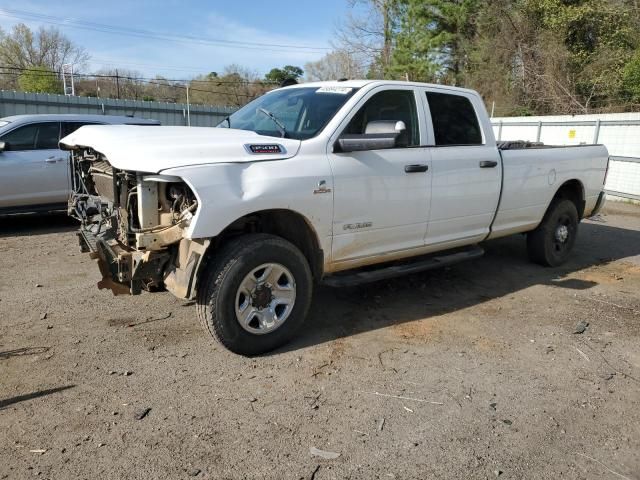
[[[64,203],[69,195],[59,122],[31,123],[0,137],[0,208]]]

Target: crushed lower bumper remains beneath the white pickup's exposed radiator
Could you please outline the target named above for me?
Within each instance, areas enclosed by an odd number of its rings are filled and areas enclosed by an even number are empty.
[[[95,235],[84,229],[78,232],[78,240],[80,250],[98,261],[102,274],[99,289],[109,289],[114,295],[138,295],[162,286],[163,272],[171,259],[168,251],[133,250],[107,233]]]

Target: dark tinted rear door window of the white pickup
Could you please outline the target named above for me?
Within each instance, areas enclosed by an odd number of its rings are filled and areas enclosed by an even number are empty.
[[[476,111],[467,97],[427,92],[436,145],[482,145]]]

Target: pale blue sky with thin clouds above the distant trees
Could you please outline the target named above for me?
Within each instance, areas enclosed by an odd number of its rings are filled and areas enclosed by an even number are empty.
[[[0,27],[57,27],[87,50],[89,72],[117,67],[183,79],[230,64],[260,75],[304,67],[330,51],[336,23],[347,12],[347,0],[0,0]],[[113,27],[197,41],[125,35]]]

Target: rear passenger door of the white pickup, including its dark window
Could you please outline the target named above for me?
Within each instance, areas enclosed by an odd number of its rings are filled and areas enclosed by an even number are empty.
[[[431,147],[431,216],[427,246],[483,240],[498,206],[502,165],[495,144],[485,141],[476,114],[484,108],[471,94],[424,89],[435,145]]]

